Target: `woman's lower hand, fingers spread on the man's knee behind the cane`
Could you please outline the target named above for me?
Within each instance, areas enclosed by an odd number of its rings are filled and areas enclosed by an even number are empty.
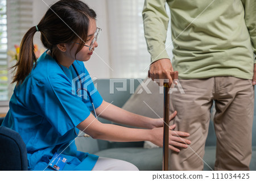
[[[169,149],[180,152],[180,148],[188,148],[191,141],[183,138],[188,137],[189,133],[172,131],[175,128],[175,124],[170,126],[169,129]],[[163,128],[154,128],[151,130],[152,139],[150,140],[155,145],[163,147]]]

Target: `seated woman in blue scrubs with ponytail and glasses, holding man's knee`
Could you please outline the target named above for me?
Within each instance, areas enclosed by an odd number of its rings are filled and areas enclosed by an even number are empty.
[[[162,146],[161,119],[115,107],[105,102],[94,87],[83,61],[88,61],[98,46],[100,31],[96,13],[85,3],[62,0],[53,4],[38,26],[24,35],[19,60],[13,67],[16,87],[3,125],[22,136],[27,146],[28,170],[138,170],[125,161],[77,151],[75,138],[79,129],[96,139],[148,140]],[[33,44],[36,32],[41,33],[47,49],[38,60]],[[102,124],[97,115],[147,129]],[[170,119],[175,115],[172,113]],[[177,136],[189,134],[170,131],[170,149],[187,148],[190,141]],[[59,159],[65,164],[56,163]]]

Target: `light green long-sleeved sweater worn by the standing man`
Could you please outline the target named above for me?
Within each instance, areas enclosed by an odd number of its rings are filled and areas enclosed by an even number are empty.
[[[151,62],[169,58],[179,78],[233,76],[252,79],[256,53],[256,0],[146,0],[142,12]]]

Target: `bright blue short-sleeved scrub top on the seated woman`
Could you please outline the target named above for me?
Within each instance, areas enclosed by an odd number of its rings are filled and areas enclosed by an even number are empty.
[[[46,52],[22,85],[16,86],[3,126],[20,134],[27,146],[28,170],[44,170],[53,154],[67,158],[64,170],[92,170],[98,156],[77,151],[76,126],[102,103],[83,62],[65,68]],[[62,68],[62,69],[61,69]],[[88,90],[80,90],[80,83]],[[53,170],[47,167],[46,170]]]

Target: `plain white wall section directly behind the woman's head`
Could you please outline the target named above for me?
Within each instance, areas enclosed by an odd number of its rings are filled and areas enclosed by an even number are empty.
[[[44,3],[46,2],[46,3]],[[44,0],[34,1],[34,24],[38,24],[40,19],[46,13],[48,6],[52,3],[57,2],[56,0]],[[92,58],[85,62],[85,67],[88,69],[92,77],[97,78],[110,78],[111,69],[109,68],[110,58],[109,58],[109,39],[108,39],[108,16],[106,9],[106,0],[84,0],[84,2],[91,7],[97,14],[97,27],[102,28],[100,38],[98,40],[98,47],[94,50]],[[47,5],[48,6],[47,6]],[[35,44],[42,47],[40,43],[40,33],[37,32],[34,37]]]

